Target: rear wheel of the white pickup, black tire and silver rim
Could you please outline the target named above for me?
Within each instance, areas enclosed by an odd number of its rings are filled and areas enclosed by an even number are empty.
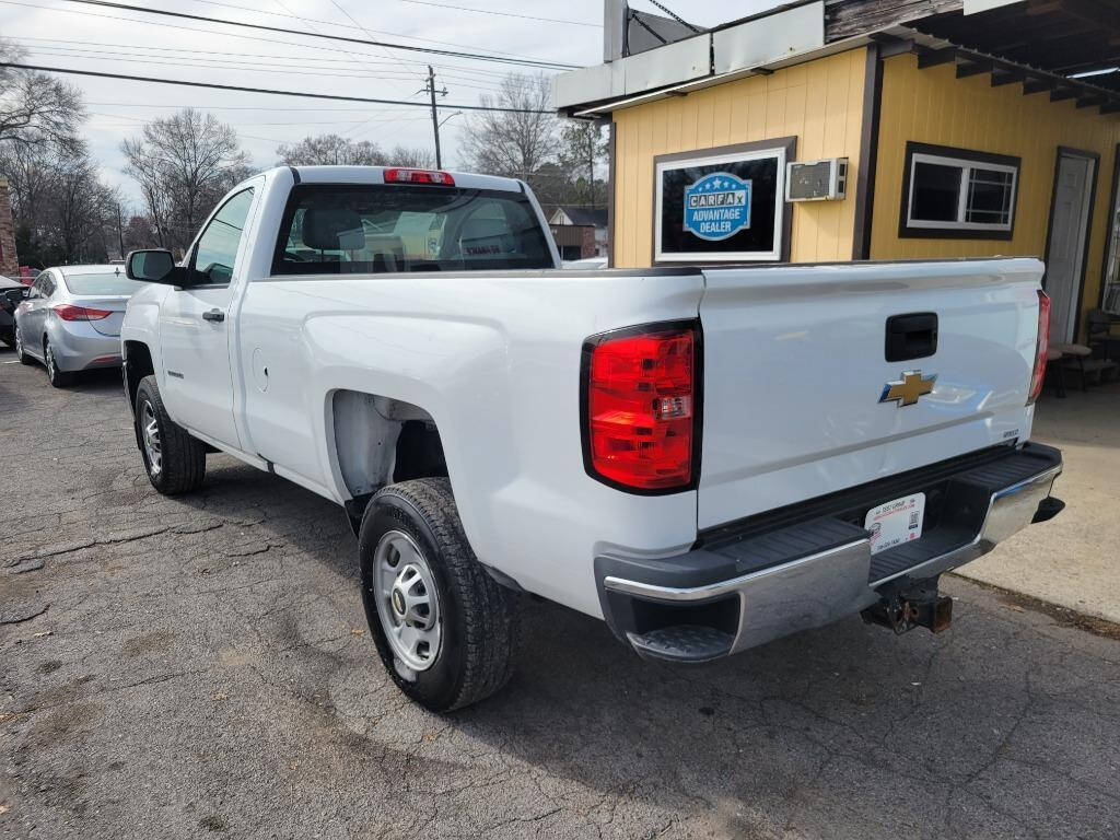
[[[358,552],[370,632],[401,691],[441,712],[505,685],[517,597],[470,550],[448,479],[380,491],[362,517]]]

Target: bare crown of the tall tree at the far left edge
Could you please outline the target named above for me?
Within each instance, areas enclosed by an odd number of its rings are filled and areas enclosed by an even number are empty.
[[[0,38],[0,63],[21,63],[24,50]],[[82,94],[45,73],[0,67],[0,146],[54,144],[74,151],[85,120]]]

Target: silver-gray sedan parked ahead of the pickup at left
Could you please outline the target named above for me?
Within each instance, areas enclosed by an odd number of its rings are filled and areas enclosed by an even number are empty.
[[[19,361],[41,362],[55,388],[80,371],[119,366],[124,307],[142,287],[121,265],[47,269],[16,309]]]

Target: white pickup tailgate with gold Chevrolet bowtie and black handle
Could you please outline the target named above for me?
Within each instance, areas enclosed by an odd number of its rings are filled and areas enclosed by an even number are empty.
[[[706,270],[698,525],[1025,440],[1042,273],[1027,259]],[[927,314],[933,355],[887,362],[888,318]]]

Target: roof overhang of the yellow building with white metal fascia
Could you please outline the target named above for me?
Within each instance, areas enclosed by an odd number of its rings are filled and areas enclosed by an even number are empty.
[[[818,17],[820,30],[814,22]],[[803,35],[806,25],[812,30],[808,37]],[[701,39],[703,46],[710,41],[708,66],[702,66]],[[759,52],[759,43],[778,48]],[[923,68],[952,62],[959,78],[988,73],[992,86],[1021,83],[1026,95],[1048,93],[1055,102],[1075,100],[1077,108],[1098,109],[1103,115],[1120,113],[1120,3],[1116,0],[927,0],[918,7],[903,0],[797,2],[641,56],[567,74],[573,83],[569,90],[577,93],[569,94],[567,102],[558,96],[559,111],[566,116],[601,119],[614,111],[768,75],[868,44],[879,45],[884,56],[915,53]],[[721,50],[727,56],[724,60]],[[634,62],[633,68],[633,76],[644,86],[627,84],[631,66],[626,63],[634,58],[644,63]],[[646,66],[657,71],[648,73]],[[592,78],[599,84],[586,84]],[[592,99],[596,93],[604,95]]]

